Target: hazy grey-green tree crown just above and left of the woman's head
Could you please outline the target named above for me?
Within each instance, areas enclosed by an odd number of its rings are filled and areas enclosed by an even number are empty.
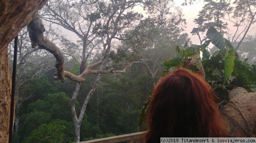
[[[173,16],[178,17],[175,14]],[[182,20],[182,16],[180,19]],[[185,21],[183,24],[185,25]],[[154,84],[162,76],[163,61],[175,54],[175,46],[185,45],[186,41],[190,43],[188,34],[180,34],[183,31],[180,27],[182,27],[181,23],[166,26],[166,28],[159,28],[155,25],[145,26],[139,34],[123,42],[121,46],[124,50],[133,47],[132,50],[141,57],[139,63],[143,65],[145,73],[152,76]]]

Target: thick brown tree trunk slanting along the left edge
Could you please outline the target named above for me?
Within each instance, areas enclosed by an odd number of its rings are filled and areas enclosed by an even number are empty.
[[[9,142],[11,72],[8,44],[25,27],[47,0],[0,1],[0,143]]]

